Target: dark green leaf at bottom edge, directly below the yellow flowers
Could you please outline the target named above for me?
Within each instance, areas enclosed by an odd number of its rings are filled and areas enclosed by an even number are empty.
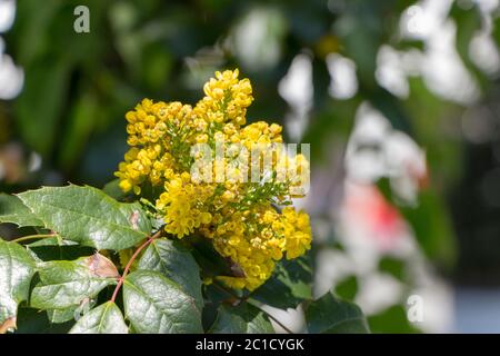
[[[211,333],[271,334],[274,333],[274,329],[262,310],[248,303],[242,303],[236,307],[222,304]]]

